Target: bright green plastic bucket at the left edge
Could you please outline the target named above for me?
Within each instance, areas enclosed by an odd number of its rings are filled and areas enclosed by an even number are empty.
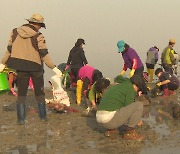
[[[2,73],[0,73],[0,94],[4,94],[9,90],[10,90],[10,88],[9,88],[7,74],[2,72]]]

